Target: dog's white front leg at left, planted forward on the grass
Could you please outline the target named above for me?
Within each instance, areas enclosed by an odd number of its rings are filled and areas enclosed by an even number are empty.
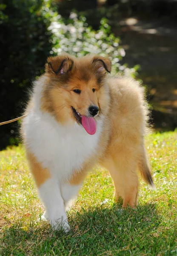
[[[49,219],[55,230],[63,229],[68,232],[70,227],[59,184],[50,178],[40,186],[39,194],[46,208],[44,217]]]

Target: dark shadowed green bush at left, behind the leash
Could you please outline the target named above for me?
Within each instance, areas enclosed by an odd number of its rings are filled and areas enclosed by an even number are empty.
[[[51,49],[47,30],[50,20],[43,13],[43,0],[4,0],[0,5],[0,122],[23,113],[26,88],[43,73]],[[0,147],[9,144],[13,125],[1,126]],[[16,136],[16,134],[15,134]],[[14,140],[11,141],[14,143]]]

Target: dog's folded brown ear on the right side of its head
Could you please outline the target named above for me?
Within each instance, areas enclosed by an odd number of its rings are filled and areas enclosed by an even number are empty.
[[[93,58],[92,64],[94,68],[100,73],[111,73],[111,61],[108,58],[104,58],[101,56],[95,56]]]

